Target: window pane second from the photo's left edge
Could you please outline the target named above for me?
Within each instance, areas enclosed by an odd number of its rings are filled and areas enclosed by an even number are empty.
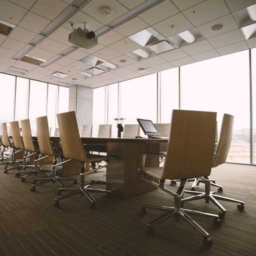
[[[15,120],[28,118],[29,79],[17,77]]]

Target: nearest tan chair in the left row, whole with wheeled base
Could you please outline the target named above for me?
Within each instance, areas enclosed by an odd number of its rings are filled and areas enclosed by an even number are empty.
[[[80,186],[77,188],[59,188],[58,191],[71,191],[68,194],[65,194],[63,196],[60,196],[55,199],[54,205],[58,206],[59,201],[70,197],[75,194],[82,194],[85,195],[91,202],[90,207],[95,207],[95,199],[91,196],[90,192],[111,192],[109,190],[104,189],[95,189],[90,188],[91,183],[86,183],[84,181],[85,175],[90,173],[88,170],[87,173],[85,173],[85,166],[88,169],[89,164],[93,162],[101,162],[105,161],[107,164],[104,166],[101,166],[100,168],[107,167],[109,165],[109,159],[107,156],[99,156],[99,155],[92,155],[92,154],[86,154],[84,150],[84,145],[82,144],[77,120],[76,120],[76,114],[74,111],[71,112],[65,112],[57,114],[57,120],[59,125],[59,132],[60,132],[60,141],[61,141],[61,147],[63,151],[63,155],[66,159],[66,161],[55,165],[54,167],[63,165],[67,162],[70,162],[71,160],[78,161],[81,163],[81,169],[80,169]],[[94,172],[95,170],[92,170],[91,172]],[[93,182],[97,183],[97,182]]]

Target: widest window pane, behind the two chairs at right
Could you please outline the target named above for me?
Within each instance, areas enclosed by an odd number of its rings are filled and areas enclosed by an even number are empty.
[[[242,51],[181,67],[182,109],[216,111],[218,132],[224,113],[234,115],[227,162],[250,162],[249,54]]]

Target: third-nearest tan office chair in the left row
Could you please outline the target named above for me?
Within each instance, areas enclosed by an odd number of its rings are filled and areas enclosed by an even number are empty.
[[[35,143],[35,141],[32,138],[31,134],[31,128],[30,128],[30,120],[24,119],[21,120],[21,129],[22,129],[22,139],[23,139],[23,145],[24,149],[26,151],[26,154],[24,156],[24,167],[23,170],[19,173],[17,173],[17,177],[21,177],[21,181],[25,182],[26,177],[32,174],[42,174],[44,176],[48,176],[46,172],[49,172],[49,170],[42,170],[40,166],[38,165],[38,161],[35,160],[34,165],[27,165],[27,161],[31,157],[36,157],[38,159],[39,156],[39,148],[38,145]],[[27,168],[32,168],[32,170],[26,170]],[[24,174],[24,176],[21,176]]]

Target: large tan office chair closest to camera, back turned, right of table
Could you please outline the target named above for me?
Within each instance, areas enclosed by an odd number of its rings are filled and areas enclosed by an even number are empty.
[[[163,167],[145,167],[147,155],[159,157],[160,154],[144,153],[141,165],[141,177],[174,197],[174,207],[151,206],[142,207],[142,215],[146,209],[159,209],[167,211],[160,217],[147,223],[149,234],[153,234],[153,225],[173,216],[181,216],[190,223],[203,236],[203,244],[211,245],[212,239],[197,222],[187,213],[209,216],[214,218],[214,224],[220,225],[218,215],[201,211],[184,209],[181,201],[188,179],[208,176],[211,172],[212,156],[215,142],[216,112],[173,110],[171,131],[167,154]],[[190,127],[190,129],[187,129]],[[165,188],[166,179],[180,179],[180,186],[176,193]],[[156,182],[158,180],[158,182]]]

